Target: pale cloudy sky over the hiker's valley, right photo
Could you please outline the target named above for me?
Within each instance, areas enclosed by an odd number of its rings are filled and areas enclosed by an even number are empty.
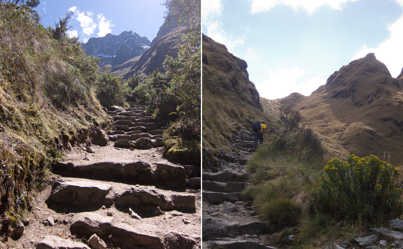
[[[310,95],[374,52],[403,67],[403,0],[202,0],[202,32],[248,64],[260,96]]]

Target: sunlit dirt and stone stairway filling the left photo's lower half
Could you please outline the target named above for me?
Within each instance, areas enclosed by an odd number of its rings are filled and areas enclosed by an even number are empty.
[[[6,247],[201,247],[200,167],[163,158],[164,128],[144,105],[130,104],[108,112],[116,129],[104,134],[107,146],[74,147],[55,165],[60,177]]]

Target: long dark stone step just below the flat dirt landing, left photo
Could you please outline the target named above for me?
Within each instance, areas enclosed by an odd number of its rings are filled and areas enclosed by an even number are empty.
[[[71,177],[129,181],[135,184],[159,184],[177,188],[186,186],[185,168],[167,163],[157,163],[156,167],[152,169],[150,164],[142,161],[133,161],[132,163],[85,162],[80,164],[58,162],[54,165],[54,169]]]

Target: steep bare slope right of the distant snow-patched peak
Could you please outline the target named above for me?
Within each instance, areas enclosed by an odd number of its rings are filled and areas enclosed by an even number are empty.
[[[169,26],[166,26],[166,24],[167,21],[160,27],[150,48],[141,55],[139,60],[134,62],[129,72],[124,75],[125,78],[129,78],[133,74],[145,78],[156,68],[159,71],[163,71],[162,63],[165,60],[165,56],[175,56],[177,54],[179,44],[183,43],[182,35],[186,31],[186,27],[178,26],[176,23],[171,23]],[[114,72],[113,68],[112,72]]]

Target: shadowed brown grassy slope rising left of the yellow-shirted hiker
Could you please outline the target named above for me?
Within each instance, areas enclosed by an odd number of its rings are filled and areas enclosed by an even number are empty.
[[[265,120],[277,127],[276,109],[259,97],[246,62],[206,35],[202,41],[203,146],[234,150],[233,135],[250,128],[251,122]]]

